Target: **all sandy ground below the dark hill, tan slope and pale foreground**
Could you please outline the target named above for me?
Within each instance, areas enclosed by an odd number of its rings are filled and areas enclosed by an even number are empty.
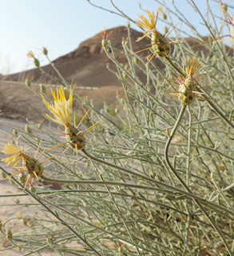
[[[32,86],[32,89],[34,89],[38,95],[29,90],[25,84],[0,82],[0,110],[2,110],[0,113],[0,151],[7,142],[11,142],[14,138],[10,126],[14,127],[16,130],[25,130],[25,125],[27,123],[26,118],[29,118],[29,120],[34,123],[42,122],[44,119],[42,114],[45,114],[48,110],[46,110],[46,106],[42,102],[38,86]],[[47,91],[50,96],[50,89],[48,88]],[[116,102],[117,91],[119,95],[124,95],[122,88],[119,86],[105,86],[100,87],[98,90],[79,90],[78,88],[76,90],[77,94],[81,97],[88,98],[89,100],[92,99],[93,105],[97,107],[97,109],[101,109],[104,102],[107,102],[107,104]],[[78,110],[79,108],[76,103],[77,102],[74,102],[73,108]],[[43,128],[46,127],[51,129],[51,127],[46,126],[46,122],[44,122]],[[34,131],[34,134],[36,133],[38,133],[38,131]],[[0,160],[2,158],[6,158],[6,155],[0,152]],[[6,168],[4,162],[0,161],[0,166],[11,172],[10,168]],[[0,256],[23,255],[27,253],[26,250],[19,251],[18,249],[8,249],[10,242],[6,240],[4,234],[6,233],[6,229],[12,230],[13,234],[20,234],[29,228],[29,226],[24,226],[22,220],[19,220],[18,218],[18,216],[26,216],[26,214],[29,213],[29,208],[20,206],[16,204],[16,202],[19,200],[21,204],[29,203],[31,202],[31,199],[27,196],[14,196],[14,194],[22,194],[22,191],[18,190],[10,180],[1,181],[1,173],[2,171],[0,170],[0,221],[3,224],[2,234],[0,233]],[[7,195],[7,197],[4,195]],[[30,214],[42,217],[42,210],[30,207]],[[31,224],[29,223],[29,225]],[[81,247],[77,242],[71,246],[74,246],[75,248]],[[42,251],[41,254],[43,256],[58,255],[58,253],[52,250]],[[69,254],[66,255],[69,256]]]

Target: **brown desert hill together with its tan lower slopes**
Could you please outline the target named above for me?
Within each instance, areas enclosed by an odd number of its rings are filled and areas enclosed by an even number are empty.
[[[121,51],[123,50],[122,40],[128,38],[127,28],[125,26],[119,26],[107,30],[106,34],[107,38],[112,42],[113,47],[117,49],[115,54],[118,61],[125,65],[127,59]],[[130,36],[134,52],[144,50],[149,45],[147,39],[136,42],[137,38],[142,36],[141,32],[130,29]],[[103,32],[82,42],[76,50],[54,60],[54,65],[61,72],[65,81],[68,83],[73,82],[76,85],[77,94],[81,95],[81,97],[92,99],[93,105],[98,109],[101,109],[104,102],[115,104],[117,91],[118,94],[124,95],[121,82],[115,74],[106,68],[106,64],[109,63],[109,68],[114,71],[116,70],[116,66],[109,60],[102,49],[102,38]],[[187,41],[190,45],[197,44],[192,38],[188,38]],[[204,46],[200,46],[199,48],[204,50]],[[143,57],[147,54],[147,51],[141,52],[141,56]],[[161,69],[164,67],[164,64],[159,58],[154,58],[153,62]],[[58,78],[50,65],[43,66],[42,68],[52,76]],[[31,120],[42,119],[42,114],[46,112],[46,107],[42,103],[42,99],[29,90],[29,88],[26,88],[25,85],[25,79],[31,78],[33,75],[33,82],[35,83],[54,84],[50,78],[47,78],[38,69],[1,76],[0,110],[2,110],[2,116],[20,119],[30,118]],[[145,74],[140,69],[137,70],[137,75],[141,78],[141,81],[145,81]],[[95,87],[94,89],[96,90],[89,90],[90,87]],[[38,84],[32,85],[32,88],[40,94]],[[47,90],[47,92],[50,95],[50,90]]]

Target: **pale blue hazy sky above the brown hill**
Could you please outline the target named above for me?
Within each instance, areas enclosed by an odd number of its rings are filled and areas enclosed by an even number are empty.
[[[109,0],[90,1],[113,10]],[[133,20],[137,20],[138,14],[144,14],[138,6],[138,0],[113,0],[113,2]],[[140,0],[140,2],[145,10],[156,11],[160,6],[155,0]],[[165,2],[171,6],[171,0]],[[198,15],[185,0],[174,0],[174,2],[183,3],[180,5],[180,10],[196,26],[200,34],[208,34]],[[206,1],[195,2],[200,10],[206,10]],[[209,2],[212,8],[216,8],[219,16],[218,4],[212,0]],[[90,6],[87,0],[0,0],[0,24],[0,73],[9,74],[34,67],[31,59],[26,57],[29,50],[33,50],[42,65],[46,65],[40,51],[42,46],[48,48],[50,58],[54,60],[75,50],[85,39],[103,30],[104,26],[107,29],[125,26],[126,20]],[[163,26],[158,22],[159,30],[162,30]]]

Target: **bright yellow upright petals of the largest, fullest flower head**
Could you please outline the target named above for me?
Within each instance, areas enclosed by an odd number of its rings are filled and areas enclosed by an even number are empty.
[[[71,123],[73,90],[70,89],[68,100],[65,99],[65,93],[62,86],[60,87],[60,90],[57,89],[57,96],[53,90],[51,90],[51,92],[54,98],[54,104],[50,105],[50,103],[46,102],[46,99],[42,96],[43,102],[45,102],[48,110],[50,110],[50,112],[54,115],[54,118],[52,118],[49,114],[46,114],[46,117],[60,125],[67,127]]]

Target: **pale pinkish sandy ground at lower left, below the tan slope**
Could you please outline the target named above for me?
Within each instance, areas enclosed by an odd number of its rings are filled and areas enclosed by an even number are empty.
[[[12,131],[10,127],[2,126],[5,124],[7,126],[14,126],[17,129],[24,130],[26,122],[22,122],[15,119],[10,118],[0,118],[0,150],[2,150],[3,146],[10,142],[13,136],[9,133]],[[0,159],[5,158],[6,155],[0,153]],[[0,166],[5,170],[9,170],[10,168],[6,167],[4,162],[0,162]],[[30,230],[30,226],[34,226],[33,222],[28,222],[27,226],[23,224],[22,219],[19,219],[19,216],[26,217],[27,215],[34,216],[43,216],[42,210],[38,209],[38,206],[22,206],[16,202],[20,202],[20,204],[34,203],[34,199],[29,198],[28,196],[15,196],[15,194],[22,194],[21,190],[18,190],[14,184],[10,182],[10,180],[2,181],[2,171],[0,171],[0,220],[2,222],[2,233],[5,234],[6,229],[12,230],[13,234],[21,234],[23,231]],[[4,196],[4,195],[7,195]],[[26,254],[27,250],[18,250],[18,249],[8,249],[10,246],[10,242],[8,242],[3,234],[0,234],[0,255],[1,256],[18,256]],[[46,237],[45,237],[46,239]],[[77,248],[81,248],[81,244],[77,244],[77,242],[73,242],[70,246]],[[7,249],[7,250],[4,250]],[[42,250],[40,251],[43,256],[54,256],[59,255],[57,252],[53,250]],[[30,254],[37,255],[37,254]],[[69,254],[65,254],[69,256]]]

